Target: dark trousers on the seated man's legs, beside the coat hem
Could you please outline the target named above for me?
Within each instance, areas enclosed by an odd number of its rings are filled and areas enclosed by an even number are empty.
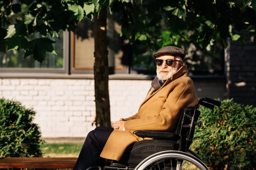
[[[90,131],[73,170],[86,170],[91,166],[104,166],[105,159],[99,155],[112,132],[113,128],[110,127],[96,127]]]

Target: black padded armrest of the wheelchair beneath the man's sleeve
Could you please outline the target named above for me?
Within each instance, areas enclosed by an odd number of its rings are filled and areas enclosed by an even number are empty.
[[[177,134],[167,131],[150,131],[150,130],[136,130],[133,132],[134,135],[141,138],[164,138],[173,139],[178,137]]]

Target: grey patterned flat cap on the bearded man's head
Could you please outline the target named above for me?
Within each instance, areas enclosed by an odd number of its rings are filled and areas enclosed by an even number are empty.
[[[184,51],[181,48],[175,47],[175,46],[165,46],[165,47],[162,47],[159,50],[157,50],[157,52],[155,52],[153,54],[153,57],[157,58],[158,56],[164,55],[164,54],[178,56],[178,57],[181,57],[182,59],[184,59],[186,56],[186,51]]]

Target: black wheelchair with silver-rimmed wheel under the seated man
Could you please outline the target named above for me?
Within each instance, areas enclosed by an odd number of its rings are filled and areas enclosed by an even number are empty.
[[[198,106],[213,109],[221,102],[210,98],[199,99],[194,108],[183,108],[175,131],[134,131],[142,140],[128,146],[120,161],[107,160],[104,170],[209,170],[189,146],[192,143],[200,111]],[[102,170],[89,167],[87,170]]]

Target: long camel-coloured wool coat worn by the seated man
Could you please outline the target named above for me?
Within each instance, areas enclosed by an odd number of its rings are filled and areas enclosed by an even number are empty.
[[[138,113],[125,122],[125,130],[114,130],[102,150],[101,157],[119,161],[126,147],[145,140],[133,134],[135,130],[173,130],[183,108],[195,107],[198,98],[195,86],[188,77],[186,65],[154,92],[148,92]]]

